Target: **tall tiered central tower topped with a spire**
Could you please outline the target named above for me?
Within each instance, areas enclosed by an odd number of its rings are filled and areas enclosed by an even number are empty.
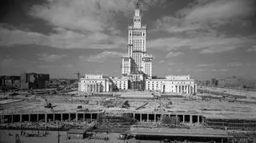
[[[152,77],[152,55],[146,54],[146,26],[142,26],[140,2],[135,0],[133,22],[128,26],[128,54],[122,58],[122,75],[144,73]]]

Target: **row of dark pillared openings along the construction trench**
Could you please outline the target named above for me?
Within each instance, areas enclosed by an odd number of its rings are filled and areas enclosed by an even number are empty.
[[[159,121],[163,115],[168,117],[178,117],[183,123],[201,123],[202,115],[199,114],[161,114],[161,113],[125,113],[130,114],[137,121]],[[86,121],[97,119],[98,113],[35,113],[35,114],[5,114],[1,115],[2,122],[22,122],[22,121]]]

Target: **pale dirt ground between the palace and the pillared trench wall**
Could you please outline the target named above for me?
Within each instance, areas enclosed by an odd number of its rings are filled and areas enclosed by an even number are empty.
[[[199,95],[199,94],[198,94]],[[209,94],[207,94],[209,95]],[[214,96],[214,95],[211,95]],[[45,99],[54,105],[54,109],[44,107]],[[161,99],[123,99],[116,97],[69,97],[69,96],[33,96],[23,97],[23,101],[0,105],[0,113],[52,113],[76,112],[78,105],[82,109],[91,111],[127,111],[127,112],[154,112],[164,109],[170,113],[202,113],[222,116],[235,115],[237,117],[256,118],[256,103],[244,101],[227,101],[223,99],[202,100],[201,97],[166,97]],[[241,99],[243,100],[243,99]],[[130,108],[124,109],[122,103],[128,101]],[[111,103],[111,107],[106,106]],[[148,103],[142,109],[136,110],[141,105]],[[114,106],[113,106],[114,105]],[[162,110],[161,110],[162,111]]]

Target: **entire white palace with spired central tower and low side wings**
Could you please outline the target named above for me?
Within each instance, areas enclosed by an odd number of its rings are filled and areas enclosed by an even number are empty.
[[[127,54],[122,57],[122,77],[82,77],[78,85],[79,91],[100,93],[146,89],[162,93],[196,93],[194,79],[190,79],[190,76],[168,76],[162,79],[153,77],[153,56],[146,53],[146,26],[142,25],[139,6],[140,3],[135,0],[133,22],[128,26]]]

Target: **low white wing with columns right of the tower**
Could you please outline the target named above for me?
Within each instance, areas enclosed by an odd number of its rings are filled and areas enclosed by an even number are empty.
[[[146,79],[146,90],[161,93],[197,93],[197,85],[190,76],[167,76],[163,79]]]

